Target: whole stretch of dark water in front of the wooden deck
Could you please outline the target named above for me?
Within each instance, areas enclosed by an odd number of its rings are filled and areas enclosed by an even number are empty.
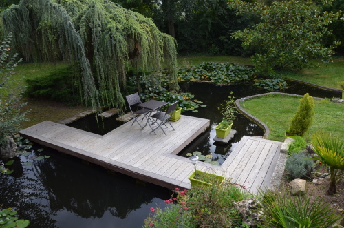
[[[16,207],[30,227],[142,227],[149,208],[163,208],[170,196],[162,187],[46,153],[51,157],[30,167],[21,165],[25,157],[16,158],[14,172],[0,176],[0,204]]]

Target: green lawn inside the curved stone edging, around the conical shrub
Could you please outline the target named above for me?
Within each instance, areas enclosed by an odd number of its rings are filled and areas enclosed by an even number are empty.
[[[241,102],[241,106],[247,112],[268,125],[270,128],[268,139],[275,141],[284,141],[285,130],[289,127],[290,120],[297,111],[298,105],[299,97],[282,96],[279,94],[259,96],[255,99]],[[344,138],[343,110],[343,103],[315,99],[313,122],[303,138],[309,142],[312,135],[320,129],[331,133],[332,136]]]

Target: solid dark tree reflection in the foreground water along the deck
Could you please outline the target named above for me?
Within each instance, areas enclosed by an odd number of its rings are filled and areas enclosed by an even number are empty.
[[[37,165],[36,174],[45,186],[53,211],[67,209],[83,218],[101,218],[105,211],[110,211],[116,217],[126,218],[131,211],[159,197],[158,192],[162,199],[168,196],[166,189],[136,185],[129,176],[111,176],[102,167],[83,165],[72,156],[52,157]]]

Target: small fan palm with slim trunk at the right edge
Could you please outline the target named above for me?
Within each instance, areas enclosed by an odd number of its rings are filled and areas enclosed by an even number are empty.
[[[336,184],[344,176],[344,141],[321,131],[313,136],[312,144],[315,158],[330,169],[327,194],[336,194]]]

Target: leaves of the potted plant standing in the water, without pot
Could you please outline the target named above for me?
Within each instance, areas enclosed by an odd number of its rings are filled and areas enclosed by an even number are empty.
[[[230,95],[233,94],[233,91],[230,92]],[[237,117],[237,106],[235,106],[235,97],[228,96],[228,99],[221,104],[221,107],[217,107],[219,112],[222,114],[221,125],[219,129],[226,129],[230,124],[233,123],[233,120]]]

